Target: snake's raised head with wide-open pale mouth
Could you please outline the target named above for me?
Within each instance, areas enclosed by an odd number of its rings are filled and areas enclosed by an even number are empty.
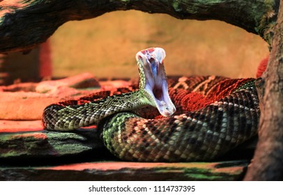
[[[165,50],[159,47],[144,49],[137,53],[140,81],[139,90],[144,93],[153,107],[156,107],[162,116],[171,116],[176,111],[172,103],[167,85],[167,77],[163,60]]]

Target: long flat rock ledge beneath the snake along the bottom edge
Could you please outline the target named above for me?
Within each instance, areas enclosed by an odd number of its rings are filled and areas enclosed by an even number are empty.
[[[245,160],[234,162],[85,162],[59,166],[0,167],[0,180],[241,180]]]

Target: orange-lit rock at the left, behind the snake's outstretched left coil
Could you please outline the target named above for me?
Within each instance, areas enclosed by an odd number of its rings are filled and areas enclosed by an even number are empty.
[[[89,95],[99,88],[98,81],[88,73],[38,84],[1,86],[0,120],[40,120],[49,104]]]

